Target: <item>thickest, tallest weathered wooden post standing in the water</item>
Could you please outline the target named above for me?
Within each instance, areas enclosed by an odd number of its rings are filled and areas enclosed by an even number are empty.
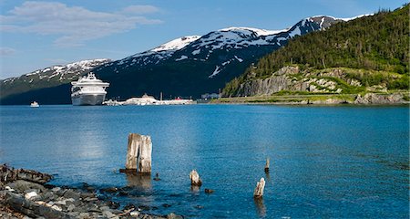
[[[130,133],[125,172],[151,172],[152,142],[148,135]]]

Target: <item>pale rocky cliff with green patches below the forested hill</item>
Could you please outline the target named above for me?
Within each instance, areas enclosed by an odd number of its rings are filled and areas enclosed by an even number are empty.
[[[396,93],[387,92],[384,82],[365,86],[363,81],[354,78],[354,75],[363,75],[359,69],[325,68],[322,70],[305,69],[297,66],[288,66],[273,72],[268,78],[256,78],[252,73],[242,83],[234,95],[235,97],[280,97],[283,94],[298,95],[299,100],[292,104],[401,104],[408,103],[409,95],[404,90]],[[385,75],[399,79],[397,74]],[[397,90],[396,90],[397,91]],[[367,92],[366,94],[363,94]],[[362,93],[362,94],[361,94]],[[321,94],[328,99],[311,100],[311,94]],[[332,96],[335,94],[335,96]],[[343,95],[337,95],[343,94]],[[225,97],[228,95],[224,95]],[[317,95],[316,95],[317,96]],[[293,96],[294,97],[294,96]],[[346,99],[346,97],[348,97]],[[301,100],[303,99],[304,100]],[[262,100],[263,101],[263,100]],[[286,102],[286,99],[277,100]]]

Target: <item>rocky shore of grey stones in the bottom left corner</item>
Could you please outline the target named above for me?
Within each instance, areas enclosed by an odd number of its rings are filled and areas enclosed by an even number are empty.
[[[84,183],[82,188],[55,186],[52,176],[42,172],[0,166],[0,218],[183,218],[177,214],[145,214],[127,204],[120,208],[109,195],[117,188],[97,191]]]

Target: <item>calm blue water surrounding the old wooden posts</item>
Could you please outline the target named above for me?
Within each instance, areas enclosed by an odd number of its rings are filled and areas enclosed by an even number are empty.
[[[52,183],[130,186],[122,203],[220,218],[408,218],[407,107],[192,105],[1,108],[0,162]],[[118,173],[128,133],[153,141],[161,181]],[[263,171],[271,158],[271,172]],[[200,172],[200,191],[189,172]],[[261,202],[252,198],[264,177]],[[204,188],[215,190],[206,194]],[[163,206],[168,203],[171,206]]]

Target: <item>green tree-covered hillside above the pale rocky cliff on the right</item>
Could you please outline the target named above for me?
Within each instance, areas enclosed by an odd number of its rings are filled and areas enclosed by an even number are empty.
[[[288,45],[261,57],[240,78],[228,83],[225,93],[232,93],[247,79],[269,77],[294,64],[302,68],[364,68],[408,75],[409,40],[408,4],[393,12],[382,10],[374,16],[340,22],[324,31],[295,37]]]

